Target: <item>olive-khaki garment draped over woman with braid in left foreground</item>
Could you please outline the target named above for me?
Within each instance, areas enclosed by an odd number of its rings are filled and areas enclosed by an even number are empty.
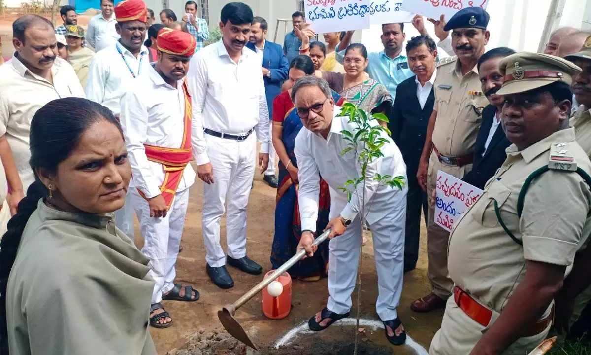
[[[113,214],[60,212],[40,201],[8,278],[11,355],[156,355],[149,262]]]

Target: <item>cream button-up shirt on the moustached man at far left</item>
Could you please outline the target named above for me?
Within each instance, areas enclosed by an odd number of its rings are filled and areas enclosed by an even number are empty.
[[[16,56],[0,66],[0,136],[7,137],[25,192],[35,181],[29,166],[29,133],[35,112],[54,99],[85,97],[74,69],[65,60],[57,57],[51,74],[53,85],[31,73]]]

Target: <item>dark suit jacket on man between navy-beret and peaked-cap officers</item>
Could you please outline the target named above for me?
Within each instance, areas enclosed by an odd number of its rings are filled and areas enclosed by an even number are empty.
[[[482,111],[482,124],[476,136],[476,147],[474,150],[474,162],[472,170],[464,176],[462,180],[479,189],[484,189],[486,182],[495,175],[496,170],[505,162],[507,154],[505,149],[511,145],[511,142],[505,136],[502,125],[498,125],[495,135],[492,136],[491,143],[484,151],[486,138],[491,131],[492,122],[496,120],[496,107],[488,105]]]

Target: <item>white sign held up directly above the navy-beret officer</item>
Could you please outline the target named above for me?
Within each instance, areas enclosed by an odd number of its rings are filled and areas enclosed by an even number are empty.
[[[486,9],[490,0],[404,0],[402,9],[439,20],[445,15],[446,20],[463,8],[480,7]]]

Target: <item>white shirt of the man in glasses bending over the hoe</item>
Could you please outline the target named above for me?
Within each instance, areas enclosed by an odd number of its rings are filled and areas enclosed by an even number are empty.
[[[305,127],[296,137],[295,153],[299,169],[298,199],[302,230],[316,230],[320,175],[330,186],[331,208],[336,208],[336,211],[340,210],[340,215],[347,220],[354,220],[361,212],[363,183],[358,185],[350,202],[348,202],[347,194],[338,190],[340,186],[345,186],[347,180],[358,179],[361,176],[361,167],[356,160],[355,152],[349,151],[344,156],[341,154],[349,143],[343,138],[341,131],[347,130],[355,135],[356,128],[349,123],[349,117],[336,117],[339,112],[340,108],[335,106],[335,117],[326,140],[319,134],[311,133]],[[372,124],[378,125],[375,121]],[[391,175],[393,178],[404,176],[406,179],[406,165],[402,159],[402,153],[388,134],[382,132],[381,137],[389,142],[381,149],[384,157],[374,158],[366,170],[365,212],[370,224],[383,218],[387,211],[391,211],[391,207],[386,208],[386,206],[392,202],[394,193],[397,192],[397,189],[392,189],[387,185],[378,186],[379,183],[374,180],[376,173],[382,176]],[[359,152],[361,152],[361,147]]]

